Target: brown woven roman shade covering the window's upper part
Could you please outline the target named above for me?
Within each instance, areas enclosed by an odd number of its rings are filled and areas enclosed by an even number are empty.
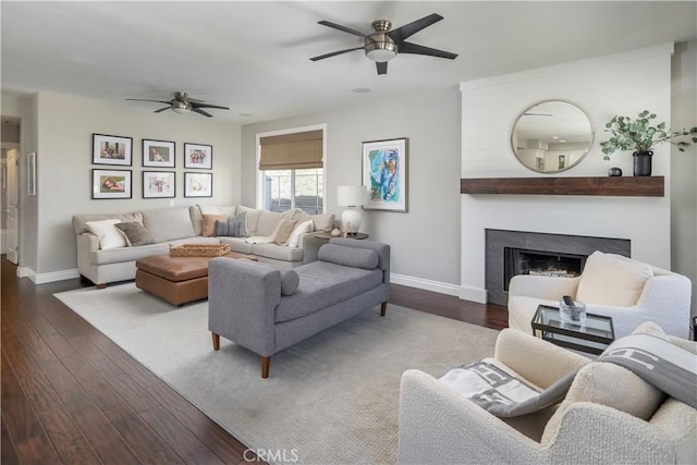
[[[322,131],[261,137],[259,170],[322,168]]]

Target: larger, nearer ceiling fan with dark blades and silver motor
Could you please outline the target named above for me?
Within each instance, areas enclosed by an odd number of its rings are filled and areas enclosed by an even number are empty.
[[[396,29],[392,29],[392,23],[387,20],[377,20],[372,22],[371,34],[363,34],[362,32],[352,29],[351,27],[342,26],[341,24],[332,23],[329,21],[320,21],[318,24],[322,26],[333,27],[334,29],[343,30],[344,33],[353,34],[354,36],[363,37],[363,47],[347,48],[344,50],[333,51],[331,53],[320,54],[319,57],[310,58],[313,61],[323,60],[326,58],[335,57],[338,54],[346,53],[354,50],[364,50],[368,59],[376,62],[378,74],[388,73],[388,61],[392,60],[398,53],[413,53],[413,54],[426,54],[429,57],[447,58],[454,60],[457,54],[443,50],[438,50],[430,47],[424,47],[416,44],[407,42],[406,39],[419,30],[432,25],[433,23],[442,20],[440,14],[429,14],[420,20],[416,20],[409,24],[406,24]]]

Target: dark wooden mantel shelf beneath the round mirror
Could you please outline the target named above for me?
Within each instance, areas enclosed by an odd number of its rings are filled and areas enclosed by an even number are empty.
[[[460,193],[663,197],[664,184],[663,176],[465,178]]]

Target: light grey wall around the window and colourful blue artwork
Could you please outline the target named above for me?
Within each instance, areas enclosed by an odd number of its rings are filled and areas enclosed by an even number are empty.
[[[242,127],[243,203],[255,201],[255,135],[327,124],[329,212],[337,186],[362,182],[362,143],[408,138],[408,212],[364,211],[360,228],[392,246],[392,281],[457,295],[460,282],[460,98],[456,87],[392,100],[357,95],[352,108]]]

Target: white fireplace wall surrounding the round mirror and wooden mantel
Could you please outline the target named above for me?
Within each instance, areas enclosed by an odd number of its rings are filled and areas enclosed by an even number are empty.
[[[518,114],[541,100],[580,106],[595,140],[576,167],[552,176],[604,176],[611,167],[632,175],[632,156],[602,159],[599,142],[615,114],[648,109],[670,126],[673,44],[462,83],[462,178],[547,176],[523,167],[511,149]],[[462,195],[461,298],[487,302],[485,229],[628,238],[632,257],[671,266],[670,147],[658,146],[653,175],[665,176],[664,197]],[[548,174],[549,175],[549,174]]]

